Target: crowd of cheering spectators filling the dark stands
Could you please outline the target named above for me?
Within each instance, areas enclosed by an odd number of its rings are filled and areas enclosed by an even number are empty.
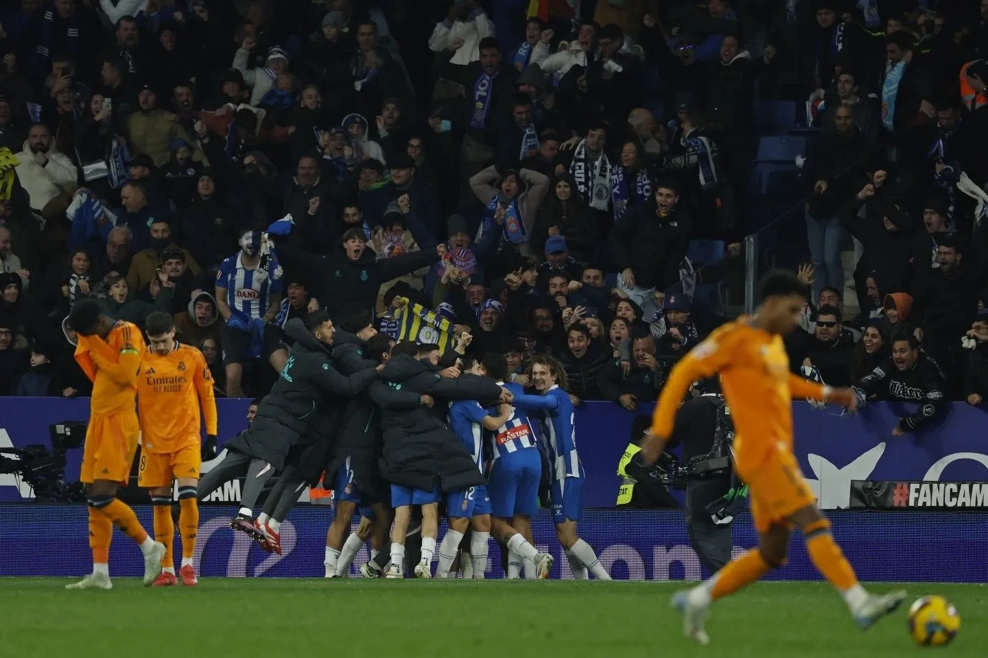
[[[0,395],[88,394],[96,297],[222,395],[321,308],[634,409],[727,315],[768,99],[809,124],[793,368],[988,395],[988,0],[20,0],[0,54]]]

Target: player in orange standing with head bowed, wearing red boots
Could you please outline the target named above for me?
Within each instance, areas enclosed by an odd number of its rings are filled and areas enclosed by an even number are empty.
[[[182,584],[195,585],[196,487],[203,464],[200,410],[206,420],[206,447],[216,445],[216,401],[203,352],[175,339],[175,321],[156,311],[144,323],[148,346],[137,376],[141,453],[137,485],[151,489],[154,538],[165,545],[156,587],[178,585],[172,560],[172,482],[179,484],[179,533],[182,536]]]

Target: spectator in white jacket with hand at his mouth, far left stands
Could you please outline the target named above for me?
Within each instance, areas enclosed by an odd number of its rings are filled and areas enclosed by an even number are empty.
[[[63,192],[70,193],[78,186],[75,165],[67,155],[55,150],[51,132],[43,123],[31,126],[28,141],[17,159],[21,163],[15,170],[17,178],[31,197],[34,210],[41,212],[53,198]]]

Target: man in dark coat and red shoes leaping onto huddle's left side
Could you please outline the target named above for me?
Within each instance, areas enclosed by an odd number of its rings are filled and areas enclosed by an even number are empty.
[[[293,466],[305,445],[320,438],[328,440],[335,430],[331,426],[333,405],[360,394],[377,379],[376,369],[345,377],[333,367],[334,328],[325,313],[309,314],[304,324],[289,320],[285,332],[295,344],[278,382],[258,406],[254,422],[226,444],[226,457],[203,477],[200,486],[200,491],[208,493],[246,473],[241,513],[231,525],[251,534],[253,523],[245,510],[253,510],[268,478],[287,464]]]

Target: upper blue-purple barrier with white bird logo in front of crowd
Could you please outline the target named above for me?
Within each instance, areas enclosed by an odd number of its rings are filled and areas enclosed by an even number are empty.
[[[246,425],[246,400],[218,400],[219,445]],[[880,402],[856,414],[812,409],[793,403],[795,452],[824,509],[849,507],[852,482],[988,481],[988,415],[962,402],[947,404],[944,417],[929,428],[902,437],[891,435],[898,418],[915,405]],[[650,413],[651,405],[638,411]],[[577,446],[587,473],[584,505],[614,507],[620,479],[617,461],[627,445],[634,413],[613,402],[585,402],[576,410]],[[30,444],[50,446],[48,425],[86,420],[88,399],[0,398],[0,450]],[[78,479],[82,450],[66,456],[65,479]],[[204,465],[204,471],[209,467]],[[894,490],[894,489],[893,489]],[[15,475],[0,475],[0,502],[33,497]],[[307,498],[305,498],[307,499]],[[923,498],[917,498],[922,505]],[[931,498],[932,500],[932,498]],[[969,500],[981,502],[983,496]],[[230,500],[230,502],[233,502]],[[967,505],[981,507],[984,505]]]

